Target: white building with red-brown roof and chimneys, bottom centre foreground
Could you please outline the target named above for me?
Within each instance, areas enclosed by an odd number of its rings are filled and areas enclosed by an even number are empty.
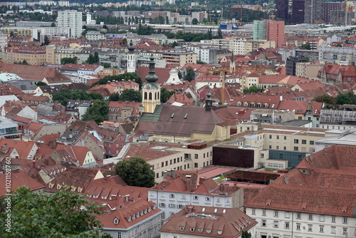
[[[188,205],[206,207],[241,208],[244,206],[244,188],[216,184],[199,178],[196,171],[168,170],[165,181],[148,190],[148,200],[155,202],[164,213],[162,219],[179,212]]]

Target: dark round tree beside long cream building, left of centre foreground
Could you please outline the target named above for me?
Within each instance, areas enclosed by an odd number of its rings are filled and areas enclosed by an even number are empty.
[[[130,186],[155,186],[155,172],[142,157],[130,157],[129,160],[117,162],[115,174],[119,175]]]

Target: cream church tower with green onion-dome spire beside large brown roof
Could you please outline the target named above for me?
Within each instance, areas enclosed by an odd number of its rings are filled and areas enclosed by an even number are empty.
[[[155,61],[153,55],[150,58],[150,69],[142,86],[142,106],[144,113],[153,113],[156,105],[161,103],[161,86],[157,83],[158,77],[155,75]]]

